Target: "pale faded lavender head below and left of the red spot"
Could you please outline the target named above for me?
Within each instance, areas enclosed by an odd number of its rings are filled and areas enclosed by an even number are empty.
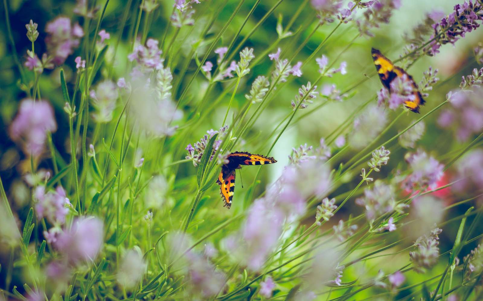
[[[374,182],[372,188],[366,188],[364,196],[357,198],[355,203],[366,209],[366,218],[370,225],[385,213],[396,210],[402,214],[404,208],[408,207],[402,203],[398,204],[394,187],[384,184],[381,180]]]

